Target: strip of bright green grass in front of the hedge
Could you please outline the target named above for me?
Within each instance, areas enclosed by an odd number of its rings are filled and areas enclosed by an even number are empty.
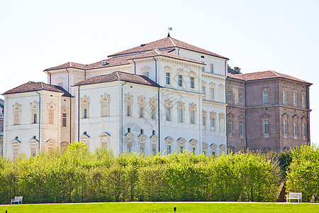
[[[6,212],[319,212],[319,204],[277,203],[83,203],[0,205]]]

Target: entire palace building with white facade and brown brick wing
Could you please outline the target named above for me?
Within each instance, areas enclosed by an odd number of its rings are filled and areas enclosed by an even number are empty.
[[[228,58],[169,36],[44,72],[47,84],[27,82],[3,94],[6,157],[73,141],[90,151],[145,155],[281,151],[310,141],[310,83],[272,71],[240,74]]]

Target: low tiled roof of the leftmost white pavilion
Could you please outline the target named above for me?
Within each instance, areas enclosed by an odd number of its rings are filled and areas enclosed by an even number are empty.
[[[4,94],[14,94],[14,93],[21,93],[21,92],[34,92],[38,90],[47,90],[51,92],[63,92],[62,96],[65,97],[72,97],[69,92],[63,89],[60,86],[45,84],[43,82],[27,82],[26,84],[22,84],[18,87],[8,90],[4,92]]]

